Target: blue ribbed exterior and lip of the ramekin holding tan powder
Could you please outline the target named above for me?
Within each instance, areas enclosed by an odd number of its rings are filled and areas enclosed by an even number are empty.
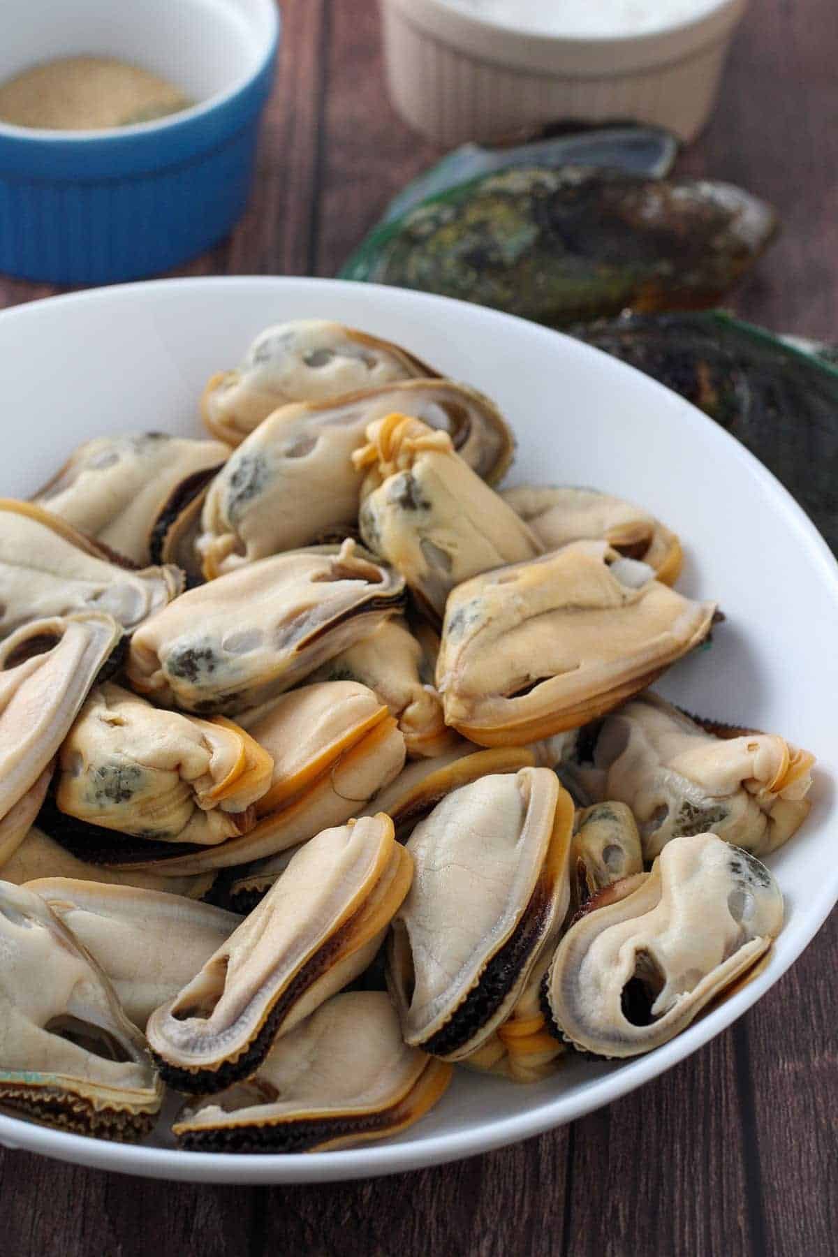
[[[141,279],[230,230],[248,201],[280,34],[274,0],[251,8],[263,34],[250,73],[182,113],[116,131],[0,123],[0,272],[52,284]]]

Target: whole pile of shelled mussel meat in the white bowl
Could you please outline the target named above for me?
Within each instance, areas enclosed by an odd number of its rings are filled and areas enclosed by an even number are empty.
[[[338,323],[201,410],[0,500],[0,1105],[340,1149],[743,980],[814,760],[650,689],[722,618],[676,533]]]

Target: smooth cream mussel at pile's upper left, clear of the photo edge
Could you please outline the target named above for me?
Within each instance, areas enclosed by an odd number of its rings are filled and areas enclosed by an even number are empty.
[[[99,436],[79,445],[31,500],[144,567],[168,561],[161,548],[175,517],[229,454],[221,441],[166,432]]]

